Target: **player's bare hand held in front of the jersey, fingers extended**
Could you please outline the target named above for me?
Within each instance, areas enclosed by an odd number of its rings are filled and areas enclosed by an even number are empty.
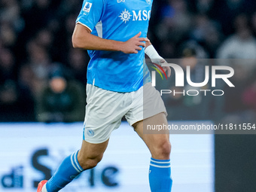
[[[139,50],[142,50],[142,47],[145,47],[145,42],[149,40],[148,38],[140,38],[140,35],[142,35],[142,32],[139,32],[128,41],[123,42],[121,51],[123,53],[138,53]]]

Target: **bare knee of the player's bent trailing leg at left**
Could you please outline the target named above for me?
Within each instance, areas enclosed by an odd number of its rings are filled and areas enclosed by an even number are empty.
[[[78,152],[78,162],[83,169],[90,169],[102,160],[103,154],[108,147],[108,140],[97,144],[83,140],[81,150]]]

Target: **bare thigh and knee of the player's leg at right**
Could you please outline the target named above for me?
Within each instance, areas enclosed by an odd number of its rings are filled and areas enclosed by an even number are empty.
[[[141,120],[133,124],[134,130],[142,138],[148,149],[151,151],[152,157],[155,159],[167,159],[171,151],[171,144],[169,142],[169,131],[162,130],[160,132],[147,132],[145,129],[147,125],[167,125],[166,114],[159,113],[145,120]]]

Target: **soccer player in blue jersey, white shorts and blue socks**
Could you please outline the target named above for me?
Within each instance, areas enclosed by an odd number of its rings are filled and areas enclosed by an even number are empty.
[[[73,46],[90,55],[84,140],[49,181],[38,184],[38,192],[59,191],[96,166],[123,116],[151,152],[151,191],[171,191],[169,134],[143,134],[143,124],[167,124],[163,100],[143,62],[145,53],[158,64],[166,62],[147,38],[151,5],[151,0],[84,0],[72,36]],[[170,75],[169,67],[164,69]]]

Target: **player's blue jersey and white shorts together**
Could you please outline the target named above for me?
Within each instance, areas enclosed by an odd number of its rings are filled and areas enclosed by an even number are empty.
[[[151,0],[84,0],[76,23],[100,38],[127,41],[139,32],[146,38],[151,6]],[[166,113],[160,93],[151,86],[144,48],[131,54],[105,50],[88,53],[85,141],[105,142],[123,116],[133,125]],[[147,96],[143,96],[145,91]]]

